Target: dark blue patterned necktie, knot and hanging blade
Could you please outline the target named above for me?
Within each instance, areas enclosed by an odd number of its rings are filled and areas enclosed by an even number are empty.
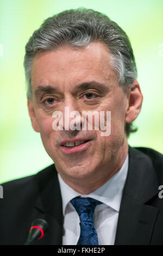
[[[98,245],[97,232],[93,225],[93,212],[96,205],[102,203],[89,197],[76,197],[71,203],[80,218],[80,237],[77,245]]]

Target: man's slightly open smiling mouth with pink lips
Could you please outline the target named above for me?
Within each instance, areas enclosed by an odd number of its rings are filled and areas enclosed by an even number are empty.
[[[77,153],[86,149],[90,141],[88,139],[87,141],[66,142],[60,145],[60,148],[66,154]]]

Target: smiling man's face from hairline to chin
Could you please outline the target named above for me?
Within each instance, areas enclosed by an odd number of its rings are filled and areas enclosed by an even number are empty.
[[[30,117],[65,180],[106,179],[109,172],[121,168],[127,155],[124,125],[128,94],[117,83],[109,56],[101,42],[92,42],[78,50],[62,46],[56,51],[40,52],[33,60]],[[46,90],[49,86],[52,88]],[[60,111],[65,118],[65,107],[81,115],[82,111],[111,111],[110,135],[101,136],[100,127],[86,131],[53,130],[53,112]],[[66,141],[76,140],[89,141],[78,149],[63,146]]]

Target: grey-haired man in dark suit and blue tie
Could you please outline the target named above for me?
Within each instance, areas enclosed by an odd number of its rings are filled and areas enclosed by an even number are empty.
[[[35,245],[162,245],[162,155],[127,141],[143,96],[126,33],[97,11],[64,11],[29,39],[24,68],[32,126],[54,164],[3,184],[1,244],[23,245],[42,218]]]

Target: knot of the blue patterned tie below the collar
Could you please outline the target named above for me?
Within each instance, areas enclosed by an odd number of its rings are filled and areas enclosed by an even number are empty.
[[[95,207],[98,204],[102,204],[102,202],[90,197],[76,197],[71,200],[71,203],[78,212],[80,222],[93,222]]]

